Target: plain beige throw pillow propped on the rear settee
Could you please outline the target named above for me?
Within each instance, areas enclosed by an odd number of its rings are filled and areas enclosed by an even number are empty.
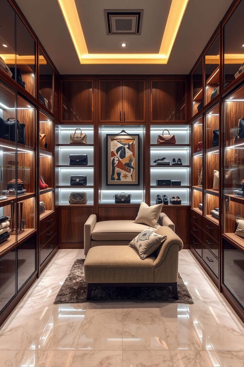
[[[142,201],[137,217],[133,223],[146,224],[147,226],[157,228],[157,221],[162,207],[163,204],[157,204],[150,207]]]

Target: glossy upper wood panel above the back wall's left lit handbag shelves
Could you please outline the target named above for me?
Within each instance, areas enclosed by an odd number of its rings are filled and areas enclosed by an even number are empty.
[[[62,120],[93,122],[93,80],[62,81]]]

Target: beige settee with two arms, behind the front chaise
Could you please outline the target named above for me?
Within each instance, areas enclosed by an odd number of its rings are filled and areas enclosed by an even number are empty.
[[[149,226],[133,223],[134,221],[102,221],[97,222],[97,216],[91,214],[84,225],[84,252],[95,246],[128,245],[131,240]],[[174,224],[166,214],[161,213],[157,229],[167,226],[174,232]],[[157,230],[155,228],[155,230]]]

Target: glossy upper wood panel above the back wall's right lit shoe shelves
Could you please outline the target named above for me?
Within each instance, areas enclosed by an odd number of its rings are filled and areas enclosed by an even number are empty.
[[[185,120],[185,81],[151,80],[151,122]]]

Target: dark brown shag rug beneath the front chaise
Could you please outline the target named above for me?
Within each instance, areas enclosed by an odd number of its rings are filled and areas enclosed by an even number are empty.
[[[91,299],[87,301],[84,261],[85,259],[75,260],[55,298],[55,305],[84,302],[166,302],[190,305],[194,303],[180,274],[178,275],[178,300],[174,299],[171,287],[93,287]]]

